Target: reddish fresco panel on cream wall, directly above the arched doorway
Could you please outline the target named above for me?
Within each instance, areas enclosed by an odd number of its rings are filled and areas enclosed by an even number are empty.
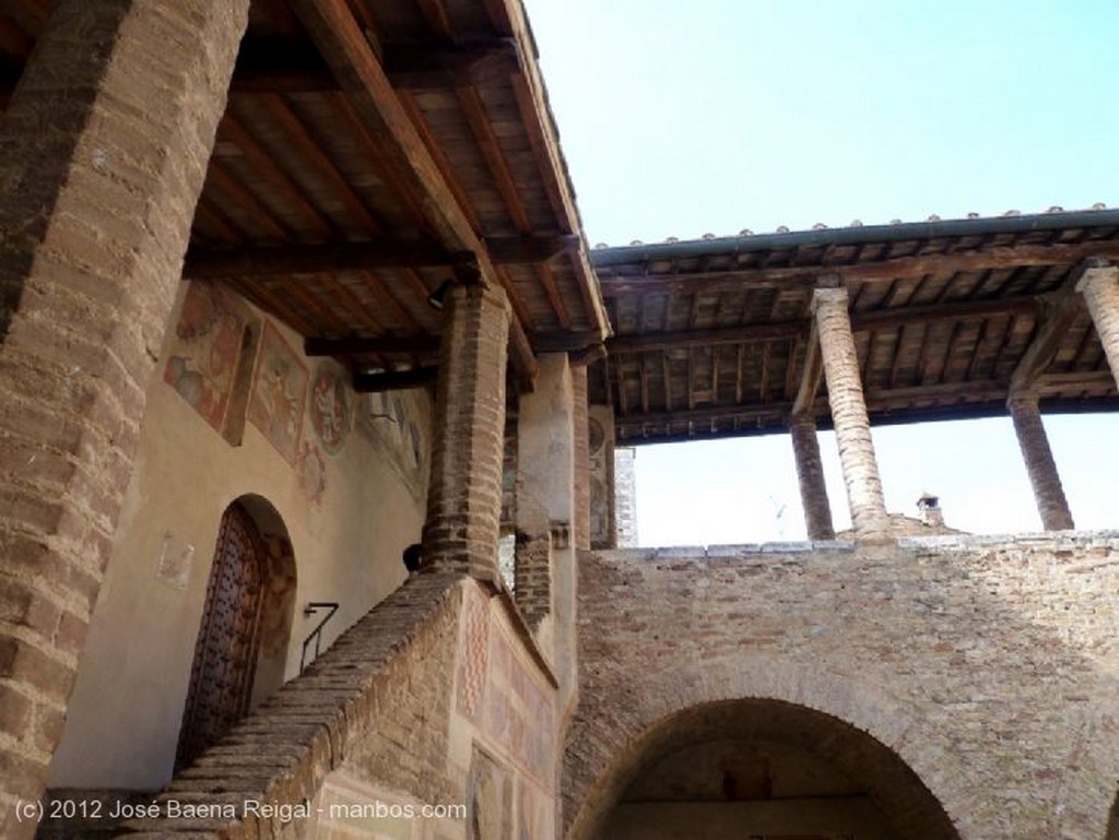
[[[248,421],[292,466],[298,465],[308,372],[271,322],[265,322],[248,399]]]

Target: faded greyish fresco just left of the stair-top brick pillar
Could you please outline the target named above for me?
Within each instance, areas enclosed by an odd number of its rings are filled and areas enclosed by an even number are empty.
[[[368,395],[361,430],[386,453],[410,492],[426,497],[431,443],[431,402],[424,390],[394,390]]]

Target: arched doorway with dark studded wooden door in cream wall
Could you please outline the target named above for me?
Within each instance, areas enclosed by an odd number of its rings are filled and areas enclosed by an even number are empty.
[[[195,642],[176,771],[283,683],[295,569],[282,520],[260,497],[222,517]]]

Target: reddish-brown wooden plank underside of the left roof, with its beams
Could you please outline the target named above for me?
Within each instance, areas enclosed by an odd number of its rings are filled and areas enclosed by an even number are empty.
[[[10,7],[0,107],[50,0]],[[493,262],[488,243],[514,234],[572,242]],[[192,248],[269,259],[261,246],[432,240],[471,254],[509,293],[523,385],[533,342],[577,349],[608,334],[524,10],[505,0],[254,0]],[[325,266],[222,282],[310,339],[406,341],[438,337],[426,296],[455,272]]]

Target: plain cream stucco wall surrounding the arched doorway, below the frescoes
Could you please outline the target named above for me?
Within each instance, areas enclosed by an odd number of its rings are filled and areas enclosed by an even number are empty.
[[[291,347],[301,347],[291,331],[273,323]],[[332,364],[304,361],[312,376],[319,365]],[[341,451],[323,454],[327,488],[314,502],[297,470],[252,423],[245,424],[242,445],[229,445],[161,374],[162,364],[149,388],[135,469],[51,764],[51,786],[157,789],[171,777],[218,525],[231,502],[264,498],[291,541],[298,589],[285,679],[298,673],[302,641],[320,620],[304,616],[303,606],[340,603],[325,629],[326,649],[399,585],[401,551],[420,539],[426,475],[410,488],[384,444],[364,433],[356,417]],[[413,402],[426,408],[429,428],[430,400],[422,395]],[[311,438],[304,418],[303,440]],[[157,569],[164,554],[184,553],[192,557],[180,591]]]

